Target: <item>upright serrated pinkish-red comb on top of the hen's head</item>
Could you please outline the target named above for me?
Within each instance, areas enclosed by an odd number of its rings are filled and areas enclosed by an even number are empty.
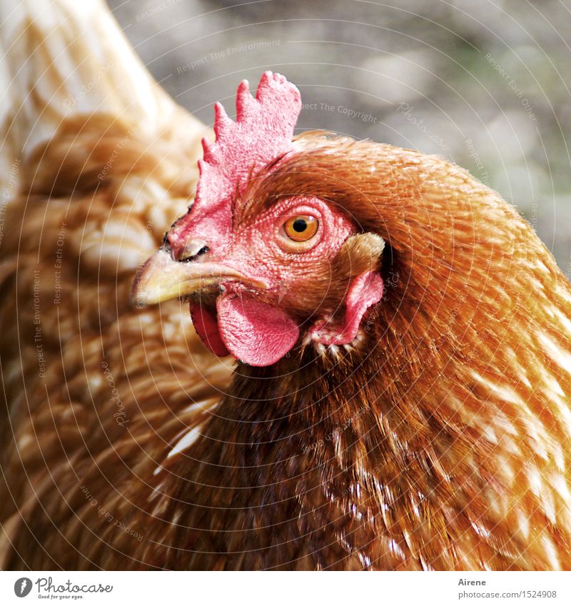
[[[200,178],[191,211],[168,234],[173,249],[199,231],[226,236],[231,228],[231,196],[246,181],[251,169],[261,168],[292,148],[293,128],[301,99],[298,89],[280,74],[266,71],[256,98],[243,80],[236,94],[236,121],[228,118],[221,103],[214,106],[213,143],[202,140],[203,159],[198,161]],[[218,239],[218,238],[217,238]],[[208,238],[209,246],[213,242]]]

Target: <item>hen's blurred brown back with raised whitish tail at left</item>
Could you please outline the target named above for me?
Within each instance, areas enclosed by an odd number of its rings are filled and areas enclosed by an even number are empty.
[[[0,11],[0,566],[160,566],[155,472],[230,369],[179,303],[128,294],[191,201],[205,129],[101,2]]]

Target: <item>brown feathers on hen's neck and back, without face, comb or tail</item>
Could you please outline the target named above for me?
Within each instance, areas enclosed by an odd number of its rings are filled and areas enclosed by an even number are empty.
[[[89,269],[82,234],[121,197],[121,176],[81,203],[51,198],[48,214],[41,200],[14,207],[26,236],[7,245],[18,279],[6,278],[1,308],[14,411],[3,435],[16,436],[4,449],[6,567],[571,568],[571,288],[552,256],[497,193],[441,158],[299,144],[255,178],[258,211],[303,193],[350,213],[388,245],[385,296],[353,347],[300,342],[271,368],[239,364],[227,395],[225,363],[176,304],[128,309],[119,249],[103,248],[98,279]],[[157,182],[176,195],[168,172]],[[153,206],[137,204],[111,216],[137,226],[133,241]],[[22,304],[38,259],[45,386]]]

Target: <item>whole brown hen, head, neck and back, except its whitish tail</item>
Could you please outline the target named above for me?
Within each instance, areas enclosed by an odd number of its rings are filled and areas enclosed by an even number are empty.
[[[443,158],[293,138],[266,72],[131,309],[196,178],[200,127],[151,90],[171,113],[108,171],[122,111],[21,163],[3,567],[570,569],[571,286],[530,225]]]

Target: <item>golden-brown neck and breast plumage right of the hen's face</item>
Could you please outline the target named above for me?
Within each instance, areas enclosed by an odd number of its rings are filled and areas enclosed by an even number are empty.
[[[570,285],[467,173],[375,149],[350,191],[315,189],[341,154],[313,161],[305,187],[383,226],[385,296],[340,359],[238,365],[176,470],[198,529],[187,563],[212,567],[201,551],[216,550],[226,568],[570,568]],[[389,161],[402,171],[379,188]]]

